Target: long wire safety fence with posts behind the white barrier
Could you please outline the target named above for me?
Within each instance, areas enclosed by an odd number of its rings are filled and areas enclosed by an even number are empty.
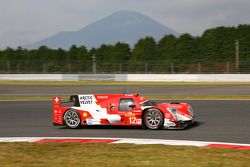
[[[211,62],[211,61],[210,61]],[[106,62],[106,61],[51,61],[11,60],[0,61],[1,74],[230,74],[250,73],[250,60],[242,60],[239,65],[233,60],[208,63],[205,60],[168,60],[149,62]]]

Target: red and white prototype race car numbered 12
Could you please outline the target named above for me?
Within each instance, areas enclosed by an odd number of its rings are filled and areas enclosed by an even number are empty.
[[[69,101],[54,97],[53,123],[69,128],[89,125],[144,126],[148,129],[183,129],[194,123],[187,103],[161,103],[139,94],[72,95]],[[72,106],[62,106],[72,102]]]

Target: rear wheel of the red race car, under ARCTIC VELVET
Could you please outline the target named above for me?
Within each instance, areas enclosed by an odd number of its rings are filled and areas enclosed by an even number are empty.
[[[71,129],[78,128],[81,124],[80,114],[73,109],[67,110],[63,116],[63,121]]]

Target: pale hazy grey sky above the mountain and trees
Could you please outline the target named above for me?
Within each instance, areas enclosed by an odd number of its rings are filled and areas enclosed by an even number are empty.
[[[119,10],[140,12],[192,35],[250,23],[250,0],[0,0],[0,49],[79,30]]]

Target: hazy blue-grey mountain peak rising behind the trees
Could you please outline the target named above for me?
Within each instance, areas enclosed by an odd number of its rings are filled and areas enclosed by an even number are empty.
[[[31,49],[46,45],[50,48],[68,49],[75,44],[92,48],[116,42],[125,42],[133,47],[142,37],[152,36],[159,40],[165,34],[179,35],[176,31],[138,12],[119,11],[79,31],[59,32],[24,47]]]

